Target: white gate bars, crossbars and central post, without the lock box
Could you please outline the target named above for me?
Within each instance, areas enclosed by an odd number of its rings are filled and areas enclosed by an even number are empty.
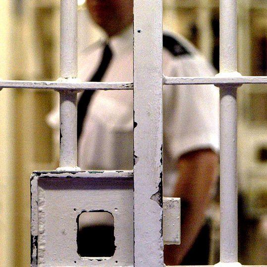
[[[242,76],[237,72],[237,0],[220,0],[219,74],[214,77],[165,77],[162,75],[162,0],[146,0],[145,3],[134,0],[134,85],[129,82],[77,80],[77,0],[61,0],[60,78],[57,81],[0,80],[0,88],[59,91],[61,135],[58,170],[62,171],[79,170],[77,93],[80,90],[134,90],[134,265],[157,267],[164,265],[161,225],[162,86],[214,84],[219,87],[220,263],[217,266],[239,266],[236,92],[242,84],[266,84],[267,77]],[[155,201],[151,201],[152,197]]]

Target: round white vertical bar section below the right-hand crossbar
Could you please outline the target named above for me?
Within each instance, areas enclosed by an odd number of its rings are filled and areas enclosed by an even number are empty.
[[[220,262],[237,262],[236,88],[220,88]]]

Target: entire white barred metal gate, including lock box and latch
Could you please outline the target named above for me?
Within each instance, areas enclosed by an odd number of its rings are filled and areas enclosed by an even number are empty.
[[[1,88],[54,89],[60,94],[60,167],[34,172],[31,180],[32,266],[163,266],[163,240],[168,244],[179,243],[179,200],[163,200],[161,190],[164,84],[215,84],[220,88],[221,230],[217,266],[240,265],[236,91],[245,83],[267,83],[267,78],[242,76],[237,72],[236,17],[236,0],[220,0],[218,75],[165,77],[162,75],[162,1],[146,0],[144,5],[143,0],[134,0],[134,85],[80,82],[76,79],[77,0],[61,0],[60,78],[55,82],[0,81]],[[77,93],[80,90],[134,90],[133,171],[81,171],[77,166]],[[168,205],[169,202],[175,205]],[[77,253],[76,219],[83,212],[94,211],[106,211],[114,218],[117,248],[113,257],[88,259]],[[176,224],[170,230],[173,222]]]

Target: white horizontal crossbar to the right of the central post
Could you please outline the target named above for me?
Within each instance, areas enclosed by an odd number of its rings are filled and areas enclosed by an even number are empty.
[[[240,77],[164,77],[165,85],[186,84],[267,84],[267,76],[240,76]]]

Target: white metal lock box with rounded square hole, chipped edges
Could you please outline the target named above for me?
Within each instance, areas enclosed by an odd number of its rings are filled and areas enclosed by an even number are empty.
[[[32,267],[133,266],[132,171],[34,172],[31,193]],[[77,217],[84,211],[113,215],[114,256],[78,255]]]

